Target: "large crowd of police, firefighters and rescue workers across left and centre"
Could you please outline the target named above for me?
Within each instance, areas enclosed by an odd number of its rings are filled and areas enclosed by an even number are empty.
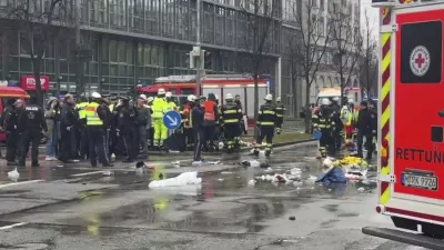
[[[274,132],[281,132],[284,107],[272,96],[265,97],[260,108],[258,142],[266,139],[266,156],[272,149]],[[246,133],[240,97],[226,93],[224,104],[219,98],[188,96],[182,107],[173,101],[171,92],[160,89],[155,97],[140,94],[129,97],[101,96],[93,92],[77,100],[72,94],[50,98],[46,107],[38,106],[36,98],[28,104],[21,99],[9,99],[2,116],[7,134],[8,166],[24,166],[29,144],[32,143],[31,163],[39,166],[38,147],[46,138],[46,160],[64,163],[89,159],[92,167],[98,162],[112,167],[117,157],[123,162],[147,159],[149,150],[192,150],[194,162],[201,162],[201,151],[240,149],[240,137]],[[167,112],[182,117],[178,129],[163,123]],[[254,151],[259,154],[259,148]]]

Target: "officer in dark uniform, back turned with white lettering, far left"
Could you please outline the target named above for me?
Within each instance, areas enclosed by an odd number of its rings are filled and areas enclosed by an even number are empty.
[[[43,109],[37,104],[37,98],[31,97],[30,104],[19,114],[18,132],[21,134],[21,153],[19,166],[24,167],[29,143],[31,148],[32,167],[39,167],[39,143],[42,130],[48,133],[47,122],[44,120]]]

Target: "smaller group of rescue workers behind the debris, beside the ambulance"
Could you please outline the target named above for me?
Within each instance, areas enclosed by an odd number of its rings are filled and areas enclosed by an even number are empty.
[[[352,99],[347,99],[342,108],[340,101],[339,97],[323,98],[320,108],[312,116],[313,129],[321,133],[321,157],[335,157],[342,149],[342,142],[345,142],[346,146],[356,146],[356,156],[360,158],[364,158],[363,147],[366,148],[365,159],[372,160],[377,137],[377,110],[374,100],[361,101],[359,109],[355,109]]]

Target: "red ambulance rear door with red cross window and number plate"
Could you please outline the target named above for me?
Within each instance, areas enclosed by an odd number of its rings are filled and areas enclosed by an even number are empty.
[[[381,118],[391,120],[394,179],[385,211],[444,224],[444,3],[400,8],[394,18],[392,111]]]

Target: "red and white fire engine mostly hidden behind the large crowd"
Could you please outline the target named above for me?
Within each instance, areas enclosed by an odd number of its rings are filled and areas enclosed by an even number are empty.
[[[259,79],[259,98],[270,92],[266,79]],[[195,76],[169,76],[157,78],[152,86],[138,87],[137,93],[148,97],[158,94],[159,89],[164,89],[173,94],[196,94]],[[241,97],[243,112],[246,117],[254,117],[254,79],[249,74],[206,74],[202,79],[202,96],[214,93],[219,97],[220,104],[224,103],[226,93]],[[260,101],[261,104],[262,101]],[[249,120],[251,121],[251,120]],[[249,122],[250,123],[250,122]],[[253,122],[254,123],[254,122]]]

